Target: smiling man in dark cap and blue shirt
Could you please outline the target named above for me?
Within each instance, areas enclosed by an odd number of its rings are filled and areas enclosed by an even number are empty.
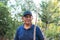
[[[34,27],[32,24],[32,13],[30,11],[25,11],[22,20],[22,24],[16,32],[14,40],[33,40],[34,38]],[[41,30],[36,26],[36,40],[44,40]]]

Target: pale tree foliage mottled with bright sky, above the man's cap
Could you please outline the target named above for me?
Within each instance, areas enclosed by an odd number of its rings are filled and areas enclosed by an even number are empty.
[[[10,8],[14,10],[13,12],[15,13],[14,17],[16,20],[19,20],[19,18],[21,19],[23,12],[26,10],[36,12],[36,6],[33,0],[15,0],[15,2],[16,4],[11,4]]]

